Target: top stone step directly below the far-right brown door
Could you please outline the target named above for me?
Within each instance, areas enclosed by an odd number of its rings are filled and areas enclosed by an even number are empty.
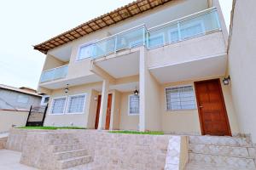
[[[226,146],[252,146],[246,138],[229,136],[189,136],[189,144],[213,144]]]

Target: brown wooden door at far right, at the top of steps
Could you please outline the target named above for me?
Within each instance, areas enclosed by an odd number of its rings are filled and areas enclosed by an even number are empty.
[[[219,79],[195,82],[195,94],[203,135],[231,135]]]

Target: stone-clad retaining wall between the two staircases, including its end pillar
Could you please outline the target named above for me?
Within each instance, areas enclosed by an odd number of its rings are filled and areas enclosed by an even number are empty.
[[[185,136],[97,133],[86,131],[78,138],[94,157],[97,169],[175,170],[187,162]]]

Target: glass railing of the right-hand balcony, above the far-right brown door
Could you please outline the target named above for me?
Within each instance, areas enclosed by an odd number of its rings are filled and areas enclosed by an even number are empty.
[[[220,24],[217,9],[209,8],[197,14],[191,14],[148,29],[147,47],[157,48],[218,30],[220,30]]]

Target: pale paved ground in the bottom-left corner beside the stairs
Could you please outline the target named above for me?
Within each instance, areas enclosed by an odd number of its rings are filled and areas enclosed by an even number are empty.
[[[2,170],[37,170],[20,164],[21,153],[13,150],[0,150],[0,169]]]

